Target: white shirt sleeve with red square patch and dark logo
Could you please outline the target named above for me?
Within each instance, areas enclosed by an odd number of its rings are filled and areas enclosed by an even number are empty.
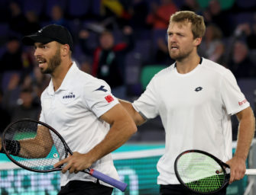
[[[100,79],[96,79],[86,86],[83,95],[89,110],[92,110],[97,117],[101,117],[103,113],[119,103],[111,93],[109,85]]]

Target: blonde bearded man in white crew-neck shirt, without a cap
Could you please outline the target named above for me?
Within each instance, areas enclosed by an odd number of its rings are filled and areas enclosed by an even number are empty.
[[[187,149],[201,149],[227,161],[230,183],[245,175],[245,160],[254,136],[254,115],[234,75],[223,66],[200,57],[197,47],[205,34],[203,17],[178,11],[167,30],[170,57],[176,60],[151,79],[131,104],[119,100],[134,122],[160,116],[166,132],[165,153],[157,163],[160,194],[190,194],[174,174],[174,161]],[[230,116],[239,120],[238,145],[232,157]],[[225,194],[225,189],[216,194]]]

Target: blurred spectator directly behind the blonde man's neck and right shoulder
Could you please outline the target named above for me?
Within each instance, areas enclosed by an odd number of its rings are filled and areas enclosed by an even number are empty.
[[[224,49],[222,31],[215,24],[209,24],[206,27],[206,34],[199,46],[200,55],[224,65]]]

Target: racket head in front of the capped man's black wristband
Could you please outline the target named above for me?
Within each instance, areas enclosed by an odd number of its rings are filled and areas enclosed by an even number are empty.
[[[42,134],[38,133],[39,130]],[[29,146],[27,145],[30,147],[33,155],[21,154],[19,156],[15,156],[11,155],[7,149],[6,140],[23,142],[28,139],[35,139],[36,136],[37,142],[33,142]],[[44,150],[44,147],[42,148],[42,143],[49,144],[50,146]],[[5,154],[12,162],[21,168],[35,172],[60,171],[62,168],[54,168],[53,165],[61,159],[66,158],[69,153],[72,154],[63,137],[60,136],[53,127],[41,121],[27,118],[10,123],[5,128],[2,133],[2,147]],[[22,147],[23,146],[21,144],[21,151],[24,149],[24,147]],[[45,154],[42,155],[40,153],[41,151],[44,151]]]

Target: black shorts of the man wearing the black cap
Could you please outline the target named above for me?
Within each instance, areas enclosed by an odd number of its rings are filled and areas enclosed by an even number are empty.
[[[90,181],[70,181],[66,186],[61,187],[58,195],[111,195],[112,187]]]

